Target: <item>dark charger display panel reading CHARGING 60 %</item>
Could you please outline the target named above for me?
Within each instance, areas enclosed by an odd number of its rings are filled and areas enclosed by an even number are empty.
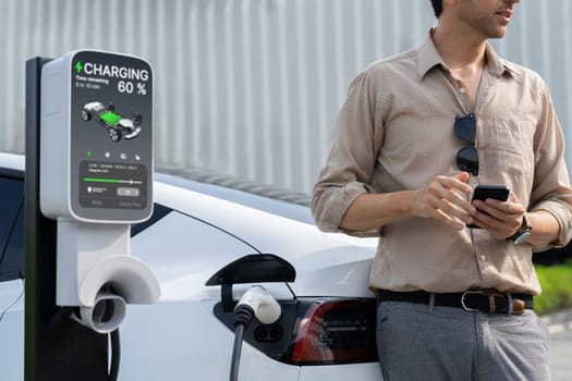
[[[71,207],[141,221],[153,207],[153,78],[134,57],[80,51],[71,75]]]

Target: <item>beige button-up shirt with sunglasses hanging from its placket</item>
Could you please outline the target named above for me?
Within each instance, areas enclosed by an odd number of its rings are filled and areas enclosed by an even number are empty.
[[[455,156],[467,144],[454,136],[453,123],[474,112],[479,170],[470,184],[508,186],[528,211],[543,209],[558,220],[560,236],[552,246],[568,243],[572,190],[548,88],[538,74],[500,59],[490,47],[486,62],[474,110],[430,37],[360,74],[314,189],[317,225],[340,231],[349,206],[364,193],[418,189],[437,175],[460,173]],[[540,292],[532,253],[548,247],[498,241],[482,229],[459,232],[424,218],[358,233],[372,234],[379,235],[372,288]]]

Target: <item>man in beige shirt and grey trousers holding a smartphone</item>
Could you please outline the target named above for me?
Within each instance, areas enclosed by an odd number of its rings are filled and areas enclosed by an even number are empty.
[[[549,380],[532,253],[571,238],[572,190],[545,83],[487,42],[519,2],[433,0],[427,41],[369,65],[340,111],[313,214],[380,236],[387,380]],[[477,184],[510,196],[471,202]]]

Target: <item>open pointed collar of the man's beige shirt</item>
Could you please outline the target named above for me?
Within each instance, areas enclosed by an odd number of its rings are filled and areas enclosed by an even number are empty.
[[[443,59],[441,58],[441,54],[439,54],[439,51],[437,51],[437,48],[433,41],[433,28],[429,30],[425,42],[419,48],[417,48],[417,71],[419,74],[419,79],[423,79],[425,75],[435,66],[447,67]],[[495,49],[492,49],[490,44],[487,44],[485,56],[487,58],[487,67],[492,75],[498,77],[509,75],[515,81],[520,81],[522,78],[522,71],[519,69],[519,66],[502,60],[497,54]]]

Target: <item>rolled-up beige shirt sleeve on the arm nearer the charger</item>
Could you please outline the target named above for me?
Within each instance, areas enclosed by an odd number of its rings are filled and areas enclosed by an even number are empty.
[[[376,94],[367,73],[361,74],[350,85],[338,115],[330,153],[312,197],[314,220],[325,232],[341,231],[350,205],[358,196],[375,192],[370,182],[384,138]],[[377,235],[378,231],[352,234]]]

